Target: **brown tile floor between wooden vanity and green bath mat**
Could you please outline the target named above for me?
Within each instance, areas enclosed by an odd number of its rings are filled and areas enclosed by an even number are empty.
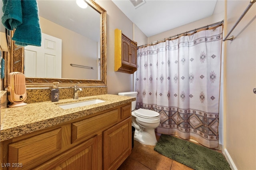
[[[160,135],[156,134],[157,140]],[[159,154],[154,151],[154,146],[144,145],[134,140],[132,153],[118,170],[192,170],[192,168]]]

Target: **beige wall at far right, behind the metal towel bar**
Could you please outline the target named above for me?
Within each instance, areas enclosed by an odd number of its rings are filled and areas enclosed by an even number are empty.
[[[226,2],[226,29],[231,30],[249,0]],[[256,4],[225,42],[224,147],[238,170],[256,170]]]

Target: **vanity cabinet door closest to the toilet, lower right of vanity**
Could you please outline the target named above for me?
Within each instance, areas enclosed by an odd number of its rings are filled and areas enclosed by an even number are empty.
[[[132,118],[103,132],[103,169],[117,169],[132,152]]]

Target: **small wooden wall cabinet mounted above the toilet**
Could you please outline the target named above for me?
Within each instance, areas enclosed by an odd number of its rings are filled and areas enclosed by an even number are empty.
[[[115,71],[133,74],[137,70],[137,43],[115,30]]]

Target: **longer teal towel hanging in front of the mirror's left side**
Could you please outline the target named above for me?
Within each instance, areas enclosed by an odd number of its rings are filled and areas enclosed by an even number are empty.
[[[3,0],[3,2],[4,1],[6,0]],[[38,6],[37,6],[36,0],[7,0],[7,1],[20,1],[20,5],[21,5],[22,24],[17,26],[14,32],[14,35],[12,37],[12,40],[15,41],[15,44],[19,46],[27,46],[27,45],[41,46],[42,36],[41,36],[41,28],[40,28],[39,16],[38,16]],[[4,4],[8,4],[8,3],[4,3]],[[11,8],[11,7],[3,6],[3,12],[5,12],[4,9],[6,10],[7,8]],[[18,6],[14,6],[13,8],[18,8]],[[20,12],[20,10],[17,10],[16,12]],[[2,20],[2,22],[4,21]]]

